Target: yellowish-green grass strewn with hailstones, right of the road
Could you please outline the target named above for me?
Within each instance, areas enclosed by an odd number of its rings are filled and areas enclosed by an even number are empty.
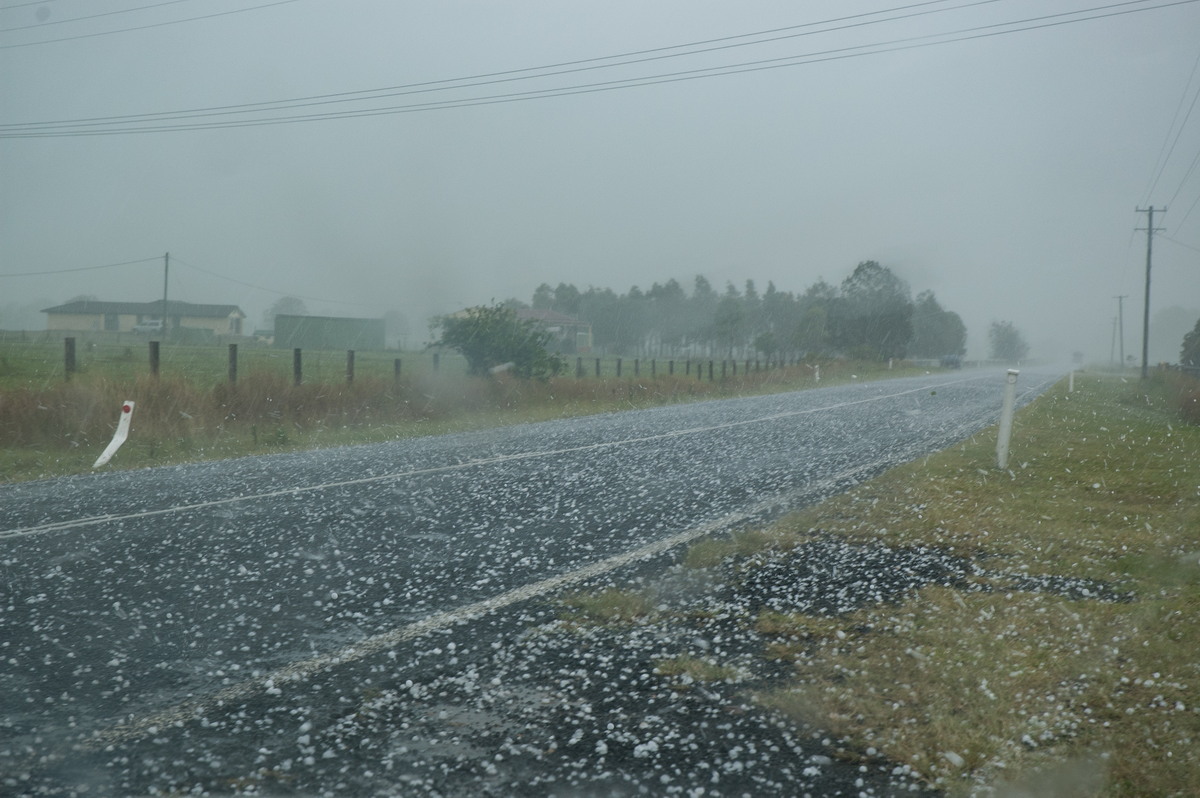
[[[1075,385],[1018,416],[1009,472],[980,434],[786,521],[785,542],[935,548],[991,576],[835,624],[764,613],[764,654],[796,671],[763,704],[952,794],[1195,794],[1200,427],[1165,380]]]

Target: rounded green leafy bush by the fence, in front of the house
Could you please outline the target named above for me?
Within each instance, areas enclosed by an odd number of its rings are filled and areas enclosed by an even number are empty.
[[[511,364],[517,377],[548,379],[566,365],[547,349],[553,338],[550,332],[533,319],[518,319],[516,311],[503,305],[468,307],[443,317],[439,325],[442,336],[436,343],[462,353],[467,371],[476,377]]]

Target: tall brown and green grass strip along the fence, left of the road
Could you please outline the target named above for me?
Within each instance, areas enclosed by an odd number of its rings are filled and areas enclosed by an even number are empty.
[[[19,371],[16,356],[7,362]],[[16,383],[0,390],[0,482],[90,470],[125,400],[136,402],[130,439],[106,468],[376,443],[815,385],[808,366],[743,368],[727,378],[718,368],[713,380],[706,372],[703,379],[643,373],[546,383],[409,370],[402,379],[366,376],[352,385],[344,373],[294,385],[278,371],[247,371],[230,385],[215,370],[161,378],[109,372],[97,362],[71,382],[12,377]],[[820,384],[914,373],[829,362]]]

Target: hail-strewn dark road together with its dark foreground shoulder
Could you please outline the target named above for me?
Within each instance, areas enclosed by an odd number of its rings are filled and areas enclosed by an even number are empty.
[[[1022,374],[1022,401],[1054,377]],[[623,685],[652,652],[560,638],[545,599],[944,448],[995,422],[1002,385],[941,373],[5,486],[0,794],[850,790],[862,775],[731,713],[732,691]]]

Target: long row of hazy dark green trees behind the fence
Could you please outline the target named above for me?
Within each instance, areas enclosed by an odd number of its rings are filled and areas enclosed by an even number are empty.
[[[580,290],[539,286],[515,307],[550,310],[588,322],[593,347],[630,356],[832,356],[865,360],[944,358],[966,353],[966,325],[931,290],[908,284],[875,260],[859,263],[841,284],[818,280],[802,293],[760,292],[754,280],[718,292],[703,276],[691,290],[678,281]],[[564,353],[571,354],[570,344]]]

